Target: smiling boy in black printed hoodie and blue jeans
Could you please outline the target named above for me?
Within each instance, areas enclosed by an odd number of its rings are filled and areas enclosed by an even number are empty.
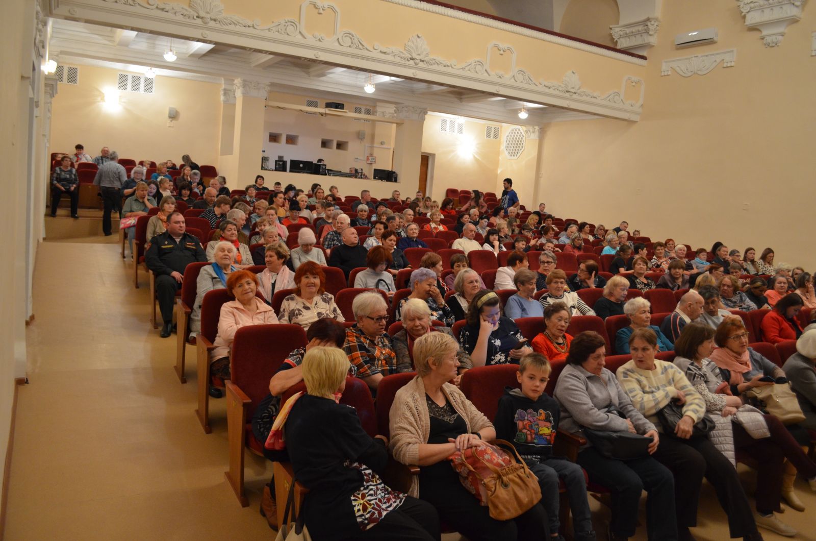
[[[496,437],[512,441],[530,471],[538,477],[541,504],[547,510],[552,539],[563,539],[558,534],[559,479],[564,481],[570,497],[575,540],[595,539],[583,470],[566,458],[552,456],[561,411],[557,401],[544,393],[550,378],[547,357],[540,353],[521,357],[516,377],[521,389],[507,387],[499,399],[493,422]]]

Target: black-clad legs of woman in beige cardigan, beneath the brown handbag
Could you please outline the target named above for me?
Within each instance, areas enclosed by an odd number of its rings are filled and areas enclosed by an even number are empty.
[[[490,516],[488,508],[480,505],[476,496],[462,486],[452,468],[450,474],[432,482],[426,482],[428,476],[421,476],[419,498],[436,507],[440,520],[459,534],[470,541],[550,539],[547,512],[543,506],[534,505],[530,511],[512,521],[497,521]]]

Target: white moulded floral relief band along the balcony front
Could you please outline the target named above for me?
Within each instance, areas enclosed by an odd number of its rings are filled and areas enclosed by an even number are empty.
[[[71,2],[72,0],[64,0],[65,4]],[[614,118],[636,120],[641,114],[643,105],[645,83],[641,78],[623,77],[620,91],[606,93],[582,88],[579,76],[574,70],[567,72],[561,82],[537,80],[528,70],[517,66],[516,50],[511,44],[490,42],[486,47],[485,58],[475,58],[462,64],[457,60],[434,55],[431,45],[422,34],[410,36],[402,47],[386,47],[379,43],[368,45],[353,30],[340,29],[340,9],[332,2],[305,0],[300,4],[299,20],[284,19],[270,25],[263,25],[259,20],[251,21],[240,16],[228,15],[224,13],[224,5],[219,0],[190,0],[188,7],[158,0],[95,0],[95,2],[118,4],[126,7],[122,11],[130,13],[142,10],[160,12],[168,22],[175,25],[184,22],[187,26],[201,25],[207,29],[217,27],[242,39],[261,38],[268,47],[277,44],[289,47],[290,51],[292,47],[299,47],[299,53],[303,56],[314,56],[329,63],[334,61],[340,65],[353,63],[361,66],[376,62],[379,64],[377,67],[386,73],[396,72],[431,81],[445,78],[447,84]],[[308,24],[319,24],[311,19],[315,16],[334,16],[332,35],[313,32],[307,28]],[[326,28],[326,25],[320,25],[320,28]],[[210,37],[215,38],[212,35]],[[259,44],[257,50],[263,51],[264,42]],[[296,48],[295,50],[297,51]],[[269,48],[266,51],[274,49]],[[509,73],[503,73],[503,70],[507,69],[506,63],[503,68],[491,69],[491,59],[498,64],[495,60],[506,55],[510,57]],[[540,69],[539,66],[536,68]],[[624,99],[623,91],[627,83],[640,83],[641,93],[638,100]]]

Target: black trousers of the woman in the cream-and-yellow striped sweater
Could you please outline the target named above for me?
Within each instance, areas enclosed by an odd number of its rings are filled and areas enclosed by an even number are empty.
[[[664,434],[652,456],[674,474],[677,525],[687,528],[697,525],[700,485],[705,476],[728,516],[731,537],[756,534],[751,504],[739,482],[737,469],[711,440],[706,437],[680,440]]]

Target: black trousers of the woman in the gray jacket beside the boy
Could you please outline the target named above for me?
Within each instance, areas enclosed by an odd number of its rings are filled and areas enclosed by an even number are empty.
[[[663,440],[660,441],[660,446]],[[659,448],[658,447],[658,448]],[[676,541],[677,522],[674,513],[674,477],[667,467],[651,456],[633,460],[606,458],[594,447],[578,454],[579,465],[589,474],[589,479],[612,491],[611,529],[620,537],[635,534],[637,510],[641,493],[649,493],[646,499],[647,539]]]

